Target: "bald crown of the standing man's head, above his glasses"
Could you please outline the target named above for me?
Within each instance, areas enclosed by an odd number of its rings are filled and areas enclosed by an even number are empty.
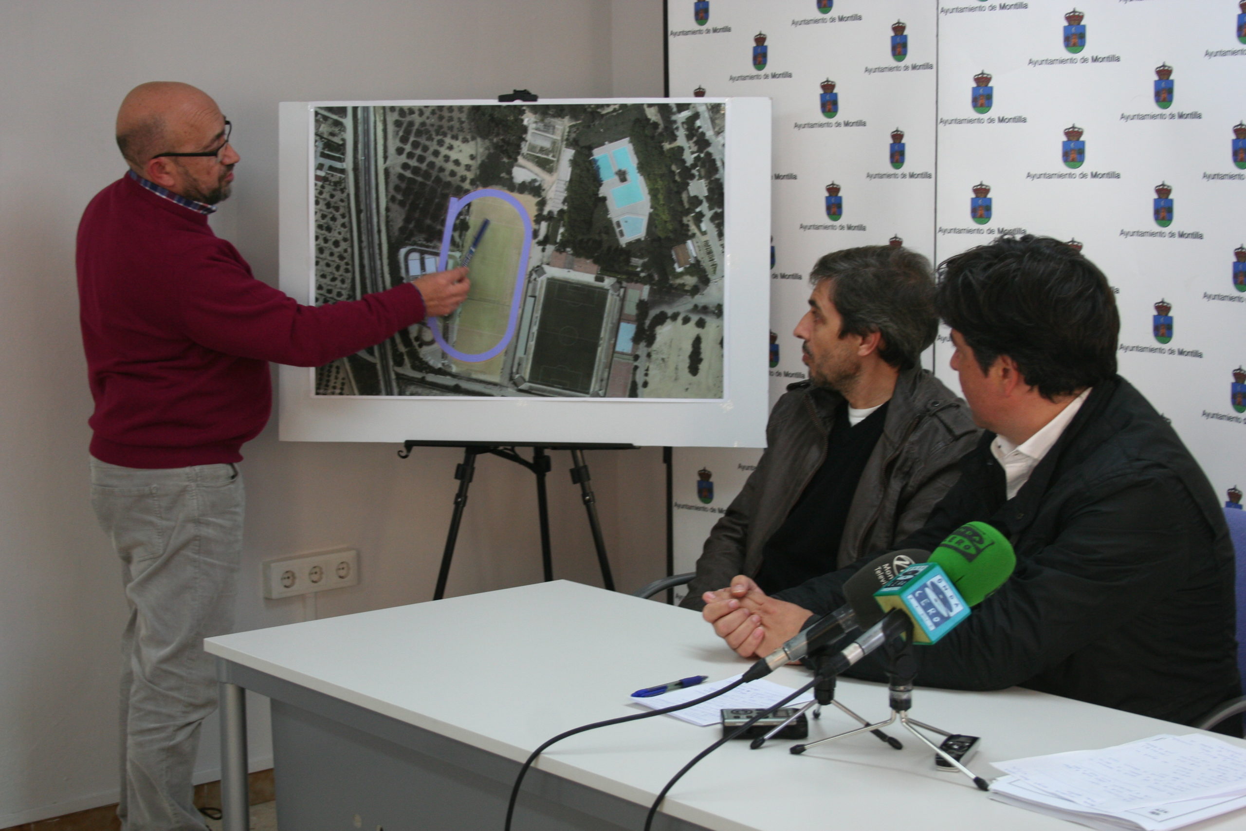
[[[206,92],[178,81],[140,83],[117,111],[117,147],[136,172],[156,153],[181,150],[221,122],[221,110]]]

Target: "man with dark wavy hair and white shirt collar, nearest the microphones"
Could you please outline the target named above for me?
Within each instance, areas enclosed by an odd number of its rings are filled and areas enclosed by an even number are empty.
[[[1116,374],[1120,321],[1104,274],[1029,235],[958,254],[941,274],[952,369],[987,432],[896,548],[931,551],[977,520],[1008,537],[1017,571],[917,650],[917,683],[1019,684],[1181,724],[1239,695],[1229,529],[1168,420]],[[704,617],[741,655],[764,655],[842,604],[854,572],[775,597],[740,576]],[[885,667],[871,657],[855,674],[882,679]],[[1240,731],[1236,719],[1219,729]]]

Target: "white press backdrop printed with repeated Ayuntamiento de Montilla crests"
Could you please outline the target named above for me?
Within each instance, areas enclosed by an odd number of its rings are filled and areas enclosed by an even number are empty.
[[[1235,132],[1246,120],[1246,2],[668,0],[667,11],[672,95],[774,100],[771,404],[804,378],[791,330],[821,254],[896,235],[937,262],[1006,232],[1048,234],[1080,243],[1108,274],[1120,373],[1231,501],[1246,482],[1246,402],[1230,400],[1246,381],[1235,380],[1246,364],[1246,263],[1234,277],[1246,259],[1236,253],[1246,158],[1235,161],[1246,153],[1246,126]],[[991,76],[989,108],[973,100],[979,75]],[[825,81],[834,116],[822,112]],[[1074,140],[1080,147],[1065,147]],[[1067,163],[1067,150],[1082,163]],[[842,201],[836,218],[829,184]],[[971,217],[978,184],[989,187],[987,222]],[[1171,203],[1156,204],[1160,186]],[[1156,320],[1165,306],[1171,320]],[[1171,331],[1158,333],[1161,323]],[[928,359],[956,389],[944,345]],[[677,572],[692,569],[758,455],[677,450]]]

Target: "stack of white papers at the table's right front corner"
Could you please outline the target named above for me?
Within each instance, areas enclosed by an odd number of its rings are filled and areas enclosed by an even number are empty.
[[[1246,750],[1195,734],[994,762],[992,799],[1091,829],[1169,831],[1246,807]]]

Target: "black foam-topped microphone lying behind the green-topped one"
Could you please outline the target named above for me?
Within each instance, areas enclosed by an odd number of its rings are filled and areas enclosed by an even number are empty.
[[[846,604],[817,618],[787,639],[784,645],[759,659],[749,672],[744,673],[744,681],[764,678],[784,664],[800,660],[811,652],[821,649],[842,634],[877,623],[883,613],[875,602],[873,593],[900,572],[913,563],[925,563],[928,558],[930,552],[906,548],[870,562],[844,583],[844,594],[849,601]]]

